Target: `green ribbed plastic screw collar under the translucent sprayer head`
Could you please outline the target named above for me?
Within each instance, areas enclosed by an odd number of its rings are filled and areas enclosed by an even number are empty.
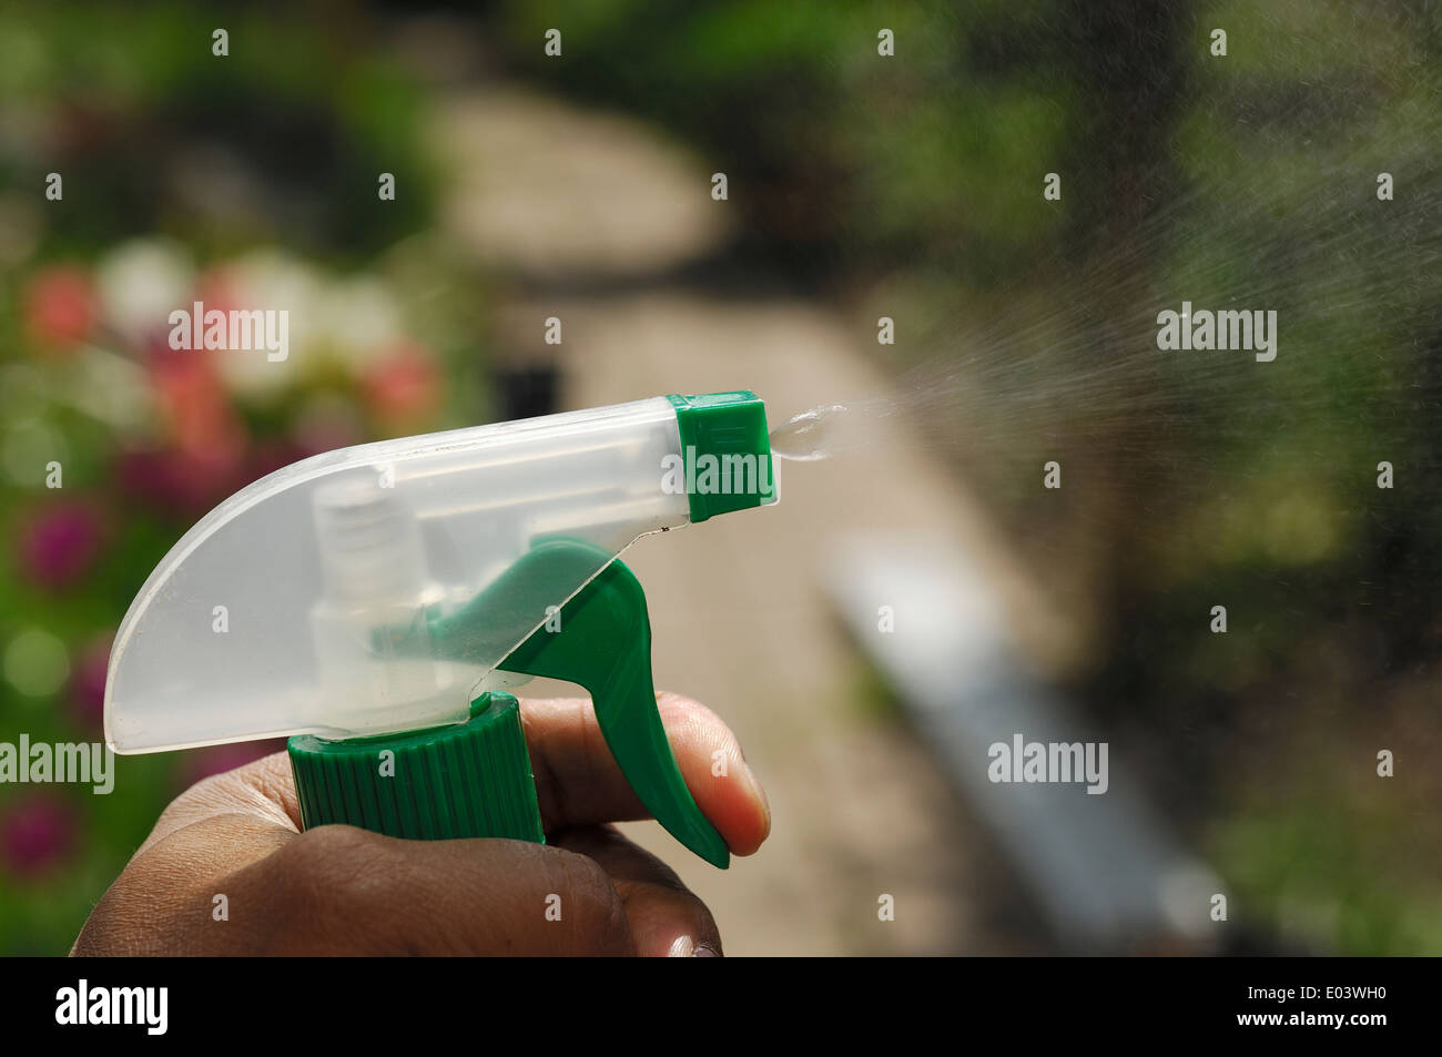
[[[286,744],[306,829],[340,822],[388,836],[545,842],[521,708],[483,694],[472,718],[411,734]]]

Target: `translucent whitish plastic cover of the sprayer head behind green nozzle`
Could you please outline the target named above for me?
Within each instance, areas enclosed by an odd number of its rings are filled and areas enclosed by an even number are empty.
[[[460,721],[470,691],[637,536],[688,522],[665,397],[330,451],[231,496],[150,574],[115,637],[121,753]],[[487,598],[464,658],[430,636],[534,544],[597,548],[547,597]],[[506,581],[509,584],[509,581]],[[549,610],[554,611],[554,610]]]

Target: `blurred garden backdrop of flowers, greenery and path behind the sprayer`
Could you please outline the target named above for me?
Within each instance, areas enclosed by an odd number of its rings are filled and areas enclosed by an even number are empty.
[[[296,459],[665,392],[877,398],[870,450],[782,467],[774,513],[627,557],[658,685],[771,795],[727,875],[646,831],[728,952],[1442,953],[1439,92],[1423,0],[6,7],[0,741],[99,740],[149,571]],[[170,350],[195,300],[288,309],[288,359]],[[1275,309],[1276,361],[1159,352],[1182,301]],[[857,526],[986,568],[1224,929],[1045,923],[836,622],[813,565]],[[275,748],[0,786],[0,952],[63,953],[172,796]]]

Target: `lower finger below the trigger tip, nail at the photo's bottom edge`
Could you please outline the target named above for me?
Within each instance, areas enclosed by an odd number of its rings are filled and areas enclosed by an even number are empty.
[[[721,933],[707,904],[645,848],[610,826],[568,829],[554,844],[601,864],[626,907],[637,955],[721,953]]]

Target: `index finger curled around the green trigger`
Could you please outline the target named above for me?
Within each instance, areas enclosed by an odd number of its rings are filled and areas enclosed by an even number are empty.
[[[679,694],[656,695],[656,708],[701,813],[734,854],[753,854],[771,829],[771,813],[731,728]],[[521,718],[548,831],[649,818],[606,747],[588,699],[526,699]]]

